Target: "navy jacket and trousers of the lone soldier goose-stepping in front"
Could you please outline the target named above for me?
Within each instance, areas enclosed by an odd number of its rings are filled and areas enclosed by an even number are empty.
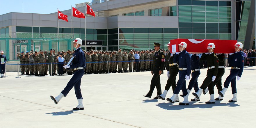
[[[74,75],[72,76],[70,81],[67,83],[67,86],[64,88],[64,90],[61,91],[61,93],[64,95],[64,97],[66,97],[69,91],[73,87],[75,87],[75,93],[76,93],[77,99],[83,99],[80,85],[81,85],[81,78],[83,77],[83,74],[84,74],[83,68],[86,67],[86,64],[85,64],[85,55],[81,50],[81,47],[76,49],[73,56],[75,57],[72,61],[72,64],[70,65],[70,68],[75,70]],[[82,68],[82,69],[77,70],[77,68]]]

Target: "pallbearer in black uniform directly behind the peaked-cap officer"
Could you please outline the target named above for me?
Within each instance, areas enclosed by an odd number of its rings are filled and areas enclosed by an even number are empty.
[[[170,50],[170,42],[168,43],[167,47]],[[176,88],[176,76],[179,72],[179,67],[177,63],[173,63],[173,54],[170,52],[166,55],[166,67],[167,67],[167,83],[165,86],[165,90],[163,91],[162,95],[157,95],[158,98],[164,100],[166,94],[168,93],[170,87],[172,86],[173,93]],[[176,96],[175,102],[179,102],[179,96]]]

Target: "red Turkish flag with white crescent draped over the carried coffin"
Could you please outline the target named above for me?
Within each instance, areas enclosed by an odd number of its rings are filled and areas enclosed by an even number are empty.
[[[234,53],[234,45],[237,43],[237,40],[174,39],[170,40],[171,51],[179,52],[179,43],[181,42],[187,43],[186,51],[189,53],[208,52],[207,47],[209,43],[214,43],[214,53]]]

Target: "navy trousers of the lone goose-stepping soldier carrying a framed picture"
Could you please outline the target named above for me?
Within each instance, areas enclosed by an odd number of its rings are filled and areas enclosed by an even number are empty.
[[[67,86],[64,88],[63,91],[61,91],[64,97],[66,97],[69,91],[73,87],[75,87],[75,93],[76,93],[77,99],[83,99],[81,89],[80,89],[81,78],[83,77],[83,74],[84,74],[83,69],[74,71],[74,75],[72,76],[70,81],[67,83]]]

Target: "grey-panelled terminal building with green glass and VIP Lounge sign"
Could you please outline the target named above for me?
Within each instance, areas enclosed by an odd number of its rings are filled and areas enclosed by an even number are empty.
[[[153,49],[153,42],[167,49],[176,38],[238,40],[255,47],[255,1],[93,0],[90,7],[96,16],[86,19],[60,10],[69,21],[59,20],[59,27],[57,12],[0,15],[0,49],[16,60],[17,53],[31,49],[72,49],[74,38],[86,39],[86,50]],[[76,9],[84,13],[85,3]]]

